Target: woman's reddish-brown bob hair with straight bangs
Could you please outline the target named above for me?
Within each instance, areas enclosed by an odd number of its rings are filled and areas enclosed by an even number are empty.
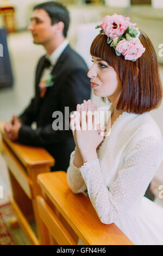
[[[148,36],[140,31],[139,39],[146,51],[135,62],[117,56],[107,43],[107,36],[98,34],[91,44],[91,56],[102,58],[117,72],[122,92],[117,110],[142,114],[158,107],[162,99],[162,86],[158,60]],[[104,98],[102,98],[104,101]]]

